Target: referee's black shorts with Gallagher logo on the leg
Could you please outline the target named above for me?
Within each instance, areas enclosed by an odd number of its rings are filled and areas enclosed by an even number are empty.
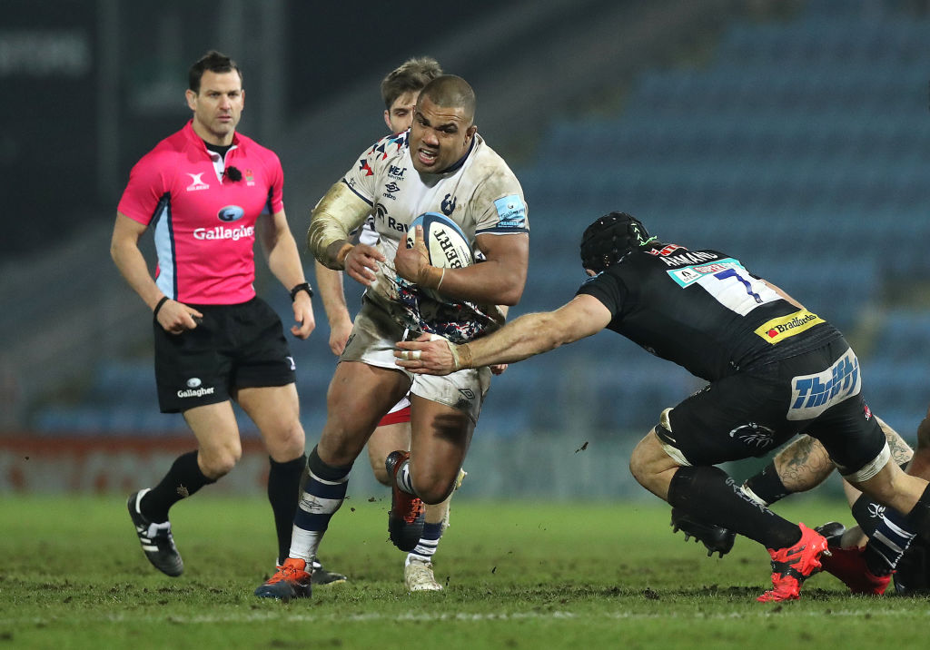
[[[154,321],[162,413],[226,402],[237,389],[294,383],[281,319],[264,300],[191,307],[204,314],[204,322],[183,334],[168,334]]]

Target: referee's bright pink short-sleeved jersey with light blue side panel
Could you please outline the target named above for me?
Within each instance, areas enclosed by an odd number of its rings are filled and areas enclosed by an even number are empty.
[[[238,133],[223,161],[191,125],[163,139],[132,168],[117,210],[153,226],[155,283],[168,298],[203,305],[246,302],[255,297],[255,222],[284,209],[281,162]],[[223,173],[230,167],[242,178],[233,181]]]

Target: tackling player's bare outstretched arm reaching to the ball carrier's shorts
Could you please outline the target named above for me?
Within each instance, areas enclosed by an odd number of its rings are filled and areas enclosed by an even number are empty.
[[[583,294],[554,312],[525,314],[497,332],[466,344],[455,345],[429,334],[415,341],[398,341],[395,363],[425,375],[448,375],[465,368],[512,364],[590,337],[604,329],[612,317],[600,300]]]

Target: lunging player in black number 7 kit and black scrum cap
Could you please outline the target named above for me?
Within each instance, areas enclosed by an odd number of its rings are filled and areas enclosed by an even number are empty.
[[[626,213],[588,227],[581,262],[591,278],[558,310],[526,314],[468,344],[399,341],[397,364],[443,375],[514,363],[606,328],[706,379],[707,388],[662,412],[633,450],[631,472],[673,507],[763,544],[773,588],[762,602],[797,599],[827,540],[746,497],[715,464],[764,456],[804,431],[850,483],[930,533],[928,484],[888,462],[839,330],[739,260],[662,244]]]

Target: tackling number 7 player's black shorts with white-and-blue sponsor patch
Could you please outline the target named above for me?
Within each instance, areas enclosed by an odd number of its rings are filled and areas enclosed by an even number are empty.
[[[884,434],[843,338],[812,352],[714,381],[668,413],[659,438],[691,465],[765,456],[797,433],[817,438],[844,472],[882,453]]]

